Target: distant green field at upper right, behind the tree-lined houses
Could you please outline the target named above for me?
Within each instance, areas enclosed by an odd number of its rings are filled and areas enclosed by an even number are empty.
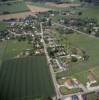
[[[66,11],[66,9],[65,9]],[[59,19],[70,19],[70,18],[81,18],[81,19],[86,19],[86,18],[94,18],[98,21],[99,23],[99,6],[90,6],[88,5],[87,7],[84,6],[84,7],[79,7],[79,8],[76,8],[76,9],[67,9],[67,11],[70,11],[70,12],[75,12],[76,14],[78,12],[82,12],[82,15],[77,15],[77,16],[55,16],[53,17],[53,20],[54,21],[58,21]]]

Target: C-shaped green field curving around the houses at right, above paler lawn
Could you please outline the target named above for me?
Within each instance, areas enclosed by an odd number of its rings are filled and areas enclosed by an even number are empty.
[[[86,70],[99,66],[99,39],[93,38],[84,34],[74,33],[72,35],[66,35],[70,46],[80,48],[89,55],[89,60],[87,62],[78,62],[76,64],[71,64],[71,71],[79,72],[80,70]],[[66,41],[66,38],[64,39]],[[66,43],[66,42],[65,42]],[[77,68],[76,68],[76,67]]]

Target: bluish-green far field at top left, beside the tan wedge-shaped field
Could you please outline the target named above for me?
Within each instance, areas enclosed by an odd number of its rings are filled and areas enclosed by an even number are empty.
[[[0,14],[29,11],[24,2],[0,3]]]

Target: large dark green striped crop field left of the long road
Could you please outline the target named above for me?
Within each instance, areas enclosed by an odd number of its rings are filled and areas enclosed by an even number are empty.
[[[0,99],[26,100],[54,96],[45,56],[4,61],[0,70]]]

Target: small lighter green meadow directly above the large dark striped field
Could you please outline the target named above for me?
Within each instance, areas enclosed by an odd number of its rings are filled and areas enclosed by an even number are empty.
[[[3,54],[3,60],[15,58],[26,49],[31,49],[32,44],[28,41],[18,41],[17,39],[8,40]]]

